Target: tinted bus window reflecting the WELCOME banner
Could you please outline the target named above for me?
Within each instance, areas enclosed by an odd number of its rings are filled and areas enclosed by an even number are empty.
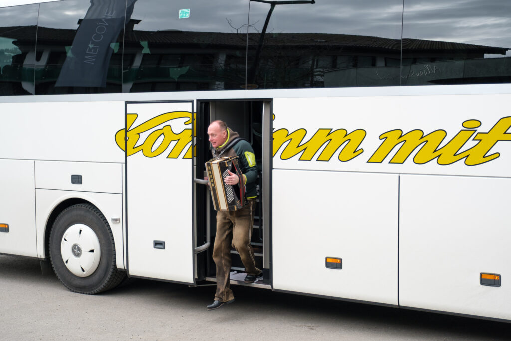
[[[126,0],[41,4],[36,94],[120,93],[125,15]]]

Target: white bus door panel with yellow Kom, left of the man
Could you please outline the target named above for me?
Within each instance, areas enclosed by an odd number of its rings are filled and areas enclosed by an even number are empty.
[[[130,276],[194,283],[193,102],[126,103]]]

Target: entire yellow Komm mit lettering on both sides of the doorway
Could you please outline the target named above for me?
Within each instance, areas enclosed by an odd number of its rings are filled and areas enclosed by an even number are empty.
[[[187,147],[183,158],[192,157],[192,147],[195,155],[196,146],[192,143],[192,138],[195,137],[196,131],[192,131],[190,126],[195,121],[195,113],[192,115],[187,111],[166,112],[133,127],[137,117],[136,113],[127,114],[127,133],[125,129],[121,129],[115,134],[115,142],[122,150],[126,140],[128,156],[142,151],[144,156],[155,157],[165,152],[171,145],[172,149],[167,158],[179,157]],[[176,129],[175,126],[173,130],[171,123],[178,119],[187,120],[183,123],[182,130]],[[383,142],[367,162],[382,163],[393,150],[396,152],[390,158],[391,164],[403,164],[414,152],[415,164],[425,164],[436,158],[438,165],[450,165],[464,159],[467,166],[476,166],[495,160],[500,153],[489,154],[489,152],[497,142],[511,141],[511,132],[507,132],[511,127],[511,117],[501,118],[488,132],[477,132],[476,129],[480,125],[481,122],[478,120],[464,121],[462,126],[465,129],[459,130],[451,140],[445,143],[444,140],[447,137],[445,130],[435,130],[426,135],[419,129],[406,133],[400,129],[390,130],[380,135],[380,140]],[[195,127],[195,124],[193,126]],[[159,128],[156,129],[157,127]],[[175,130],[180,132],[176,133]],[[147,137],[141,142],[139,140],[144,133]],[[339,161],[347,162],[364,151],[360,148],[366,137],[363,129],[356,129],[350,133],[346,129],[334,131],[318,129],[308,141],[304,141],[306,135],[307,130],[303,128],[291,133],[284,128],[275,130],[273,156],[284,147],[280,155],[282,160],[289,160],[300,154],[299,160],[312,161],[322,148],[316,161],[330,161],[338,152]],[[469,141],[475,141],[476,144],[462,150]]]

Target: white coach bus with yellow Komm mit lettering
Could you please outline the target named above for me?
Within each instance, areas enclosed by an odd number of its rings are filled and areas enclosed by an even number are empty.
[[[508,0],[5,3],[0,253],[214,282],[222,119],[259,167],[249,286],[511,320]]]

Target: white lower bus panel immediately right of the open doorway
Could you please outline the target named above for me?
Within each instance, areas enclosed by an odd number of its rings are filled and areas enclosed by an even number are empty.
[[[398,175],[273,170],[272,231],[275,289],[398,304]]]

